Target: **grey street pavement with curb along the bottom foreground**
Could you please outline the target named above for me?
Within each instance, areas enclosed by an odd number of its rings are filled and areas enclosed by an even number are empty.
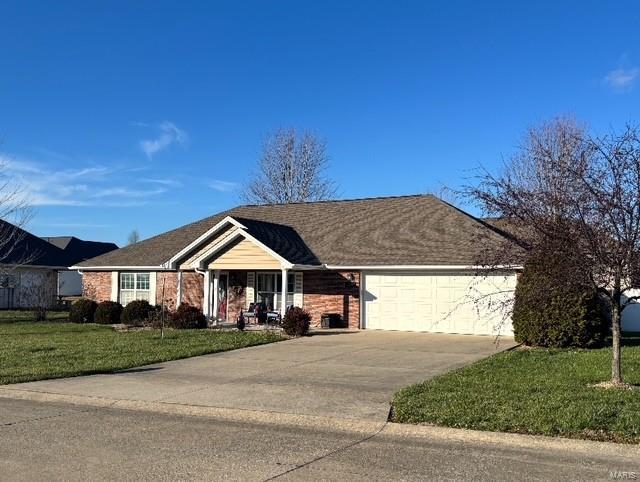
[[[612,472],[640,473],[636,446],[396,424],[314,428],[6,398],[0,431],[0,479],[11,481],[611,480]]]

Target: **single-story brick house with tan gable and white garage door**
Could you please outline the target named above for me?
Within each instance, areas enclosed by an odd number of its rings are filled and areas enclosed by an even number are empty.
[[[189,303],[216,321],[264,301],[315,324],[337,313],[352,328],[511,334],[474,303],[513,296],[517,266],[476,276],[479,245],[505,239],[431,195],[240,206],[72,268],[98,301]]]

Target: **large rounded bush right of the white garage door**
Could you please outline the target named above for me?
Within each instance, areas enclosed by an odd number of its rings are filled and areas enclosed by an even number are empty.
[[[513,307],[516,341],[530,346],[591,348],[604,343],[608,323],[596,291],[579,267],[552,250],[525,264]]]

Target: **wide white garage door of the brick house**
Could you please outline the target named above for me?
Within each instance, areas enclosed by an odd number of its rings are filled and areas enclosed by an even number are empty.
[[[513,298],[515,273],[363,273],[364,326],[378,330],[512,335],[496,307]]]

